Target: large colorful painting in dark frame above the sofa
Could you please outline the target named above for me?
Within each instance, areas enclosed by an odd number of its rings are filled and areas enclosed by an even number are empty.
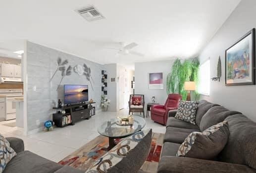
[[[255,85],[255,28],[225,53],[226,86]]]

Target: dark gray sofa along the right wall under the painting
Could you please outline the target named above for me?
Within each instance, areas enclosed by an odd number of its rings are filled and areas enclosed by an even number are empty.
[[[256,123],[240,112],[200,101],[196,125],[175,119],[169,112],[157,173],[256,173]],[[176,157],[180,144],[192,131],[203,131],[222,121],[229,124],[229,139],[214,160]]]

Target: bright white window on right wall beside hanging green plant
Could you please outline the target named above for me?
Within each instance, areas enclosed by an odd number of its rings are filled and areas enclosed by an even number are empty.
[[[210,59],[207,59],[199,66],[199,87],[198,92],[210,95]]]

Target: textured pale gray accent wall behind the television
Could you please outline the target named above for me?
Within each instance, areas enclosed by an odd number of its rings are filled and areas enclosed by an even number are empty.
[[[73,70],[70,76],[63,78],[61,86],[58,90],[58,84],[61,80],[61,72],[58,71],[50,82],[51,76],[57,68],[57,58],[60,57],[62,61],[68,60],[68,65],[74,67],[77,64],[83,66],[85,63],[91,68],[91,74],[94,80],[93,88],[85,76],[77,75]],[[58,98],[63,103],[63,85],[88,85],[89,86],[89,100],[92,98],[97,105],[101,102],[101,70],[102,65],[80,58],[74,55],[63,53],[61,51],[45,47],[36,43],[27,42],[27,119],[28,130],[38,129],[44,126],[44,122],[52,119],[52,109],[56,106]],[[40,125],[36,121],[40,121]],[[86,121],[86,120],[85,120]]]

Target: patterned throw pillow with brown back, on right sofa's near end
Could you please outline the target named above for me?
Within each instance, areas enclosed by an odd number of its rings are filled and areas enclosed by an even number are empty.
[[[203,132],[194,131],[180,145],[177,156],[213,159],[225,147],[228,137],[227,121],[218,123]]]

